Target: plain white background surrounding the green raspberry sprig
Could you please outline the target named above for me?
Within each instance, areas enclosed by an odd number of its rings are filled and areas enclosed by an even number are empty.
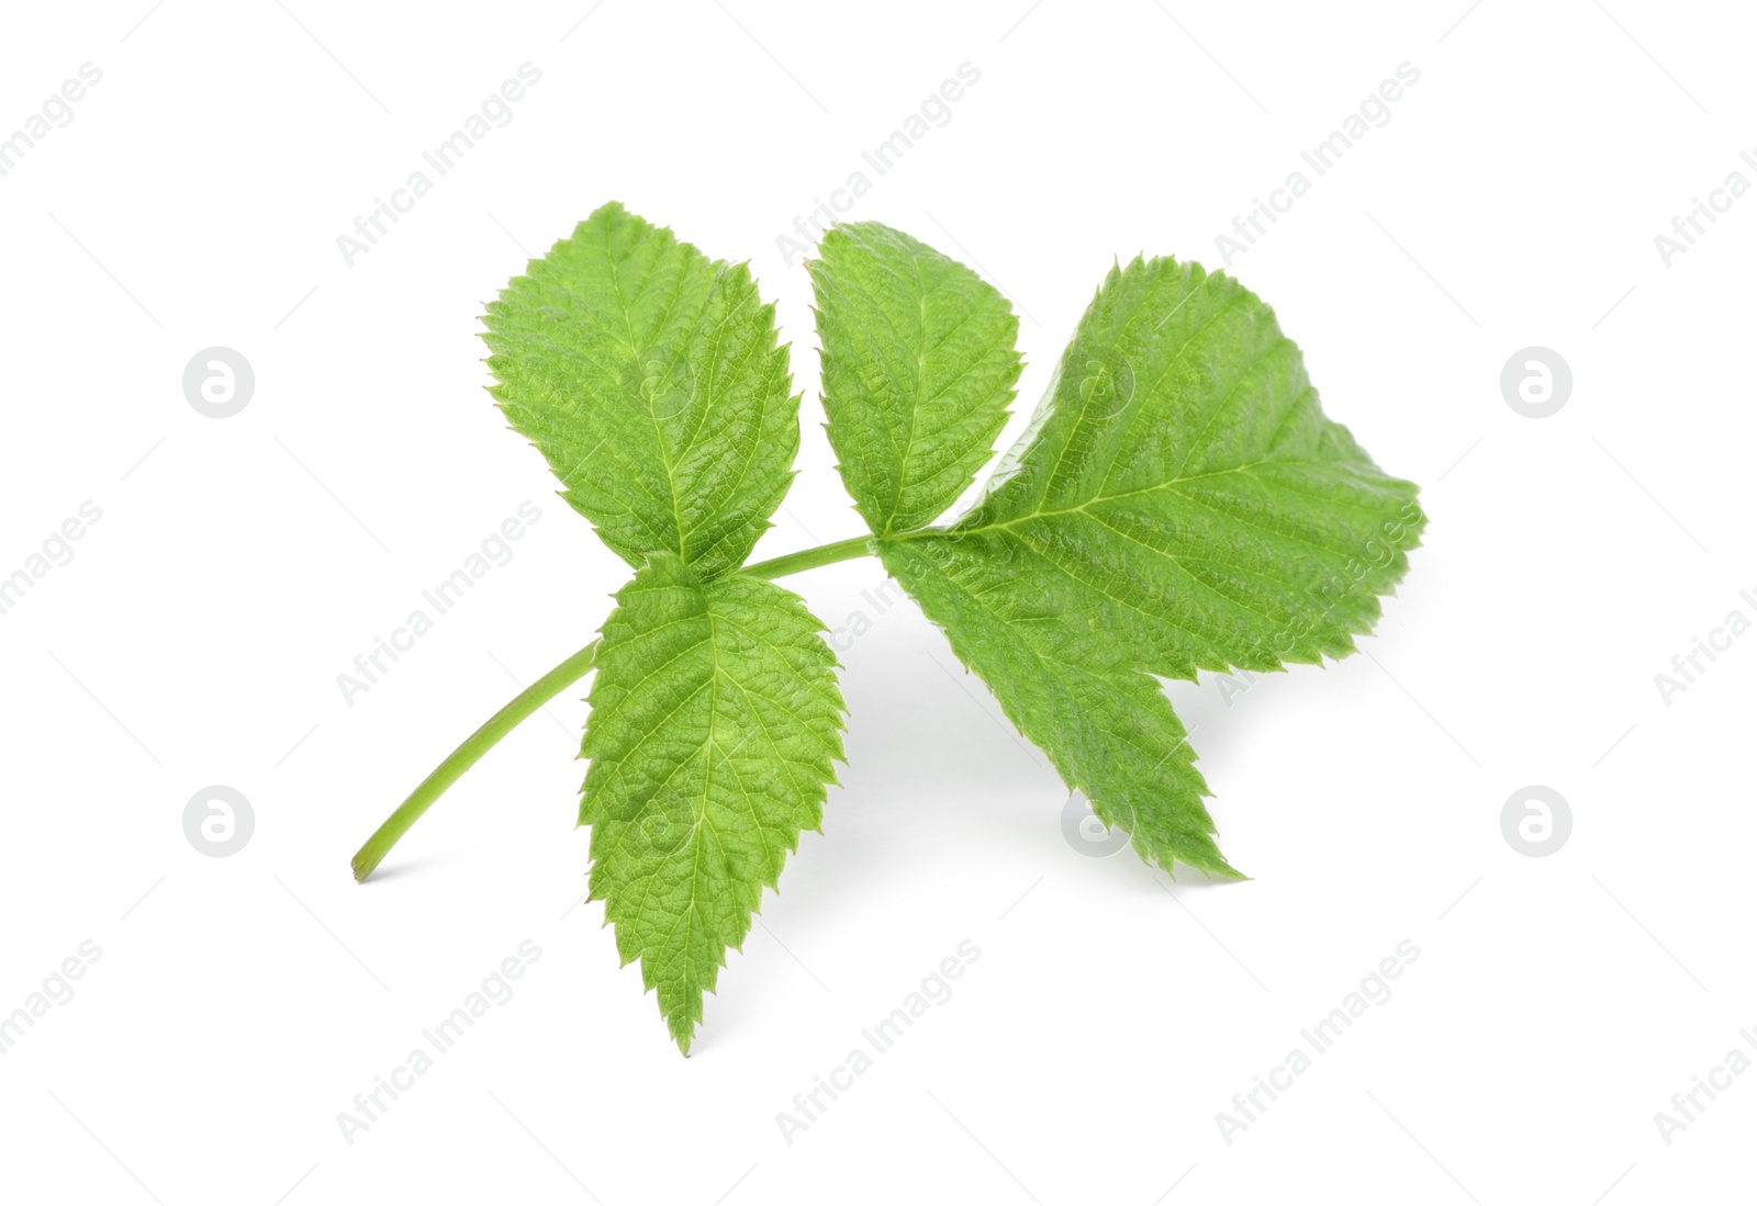
[[[0,1057],[0,1195],[1745,1192],[1757,1076],[1671,1145],[1655,1113],[1757,1025],[1757,635],[1669,706],[1653,676],[1757,618],[1757,197],[1669,267],[1653,235],[1729,172],[1757,181],[1748,12],[148,4],[19,5],[0,44],[0,132],[104,72],[0,177],[0,574],[83,502],[104,516],[0,616],[0,1011],[102,948]],[[515,119],[348,267],[336,237],[525,61]],[[966,61],[952,119],[864,169]],[[849,765],[692,1059],[601,908],[573,908],[583,686],[351,881],[365,834],[625,576],[481,390],[476,318],[527,253],[620,198],[752,262],[806,395],[771,556],[859,532],[777,246],[813,198],[866,170],[850,216],[1000,283],[1035,404],[1112,256],[1219,267],[1216,233],[1406,61],[1393,119],[1232,269],[1430,514],[1362,655],[1230,700],[1170,686],[1251,881],[1079,853],[1045,758],[912,604],[863,599],[870,560],[789,581],[833,627],[873,621],[842,653]],[[214,344],[257,374],[221,421],[181,390]],[[1536,421],[1499,386],[1532,344],[1574,374]],[[524,500],[517,556],[344,702],[336,676]],[[1573,809],[1544,858],[1500,829],[1532,783]],[[228,858],[184,839],[207,785],[255,809]],[[543,953],[517,995],[346,1143],[337,1113],[524,939]],[[982,955],[954,997],[789,1145],[777,1113],[963,939]],[[1392,999],[1228,1145],[1216,1113],[1404,939]]]

